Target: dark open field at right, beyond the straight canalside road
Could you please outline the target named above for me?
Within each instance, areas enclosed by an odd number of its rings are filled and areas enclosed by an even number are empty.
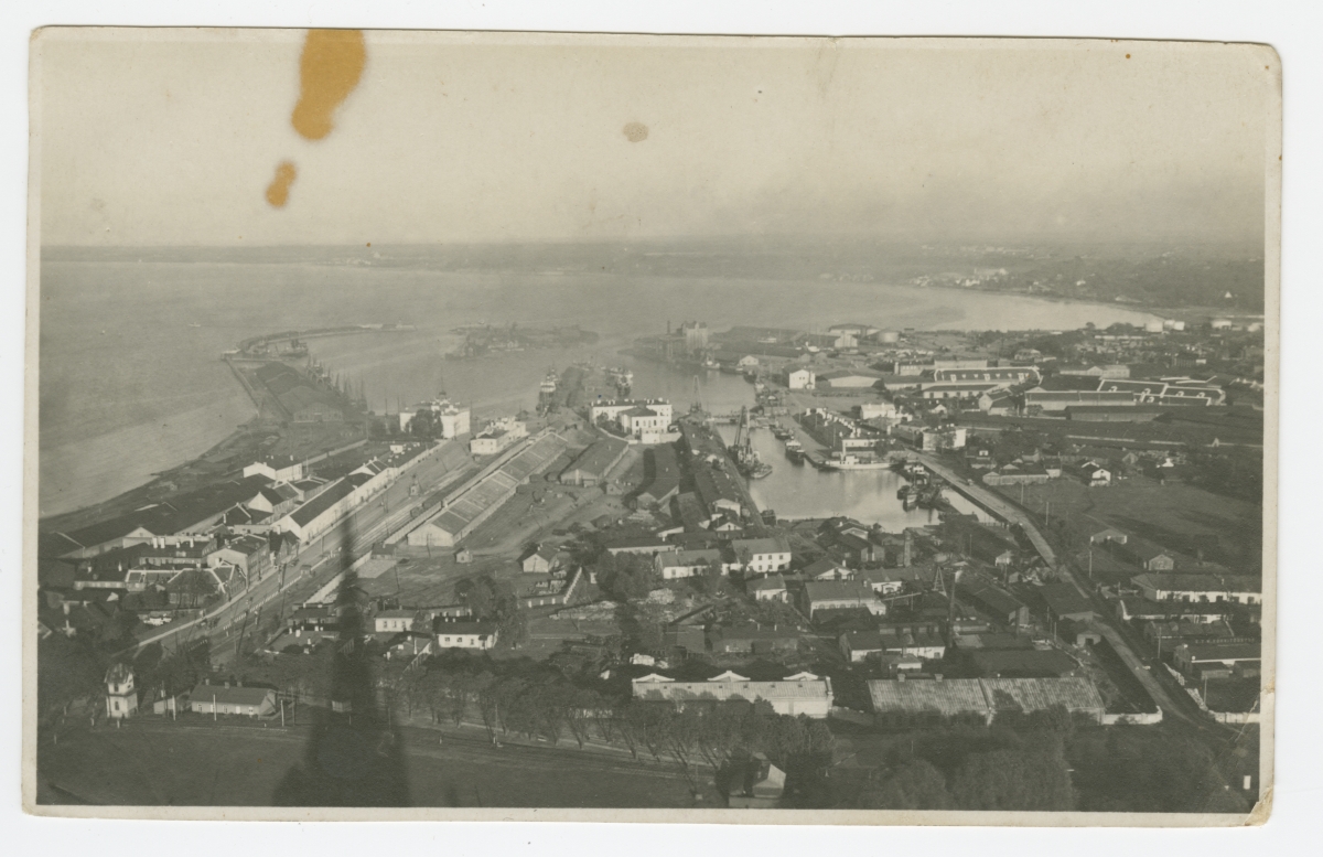
[[[996,491],[1021,503],[1017,485]],[[1044,516],[1049,503],[1052,520],[1072,529],[1115,526],[1191,557],[1203,550],[1205,561],[1236,570],[1253,571],[1262,562],[1262,510],[1193,485],[1131,477],[1109,488],[1086,488],[1073,479],[1023,488],[1021,504],[1035,514]]]

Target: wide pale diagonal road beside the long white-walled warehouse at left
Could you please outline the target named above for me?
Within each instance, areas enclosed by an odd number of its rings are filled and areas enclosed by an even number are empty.
[[[220,655],[228,645],[237,645],[238,635],[230,633],[232,626],[239,623],[239,633],[243,633],[249,628],[249,620],[251,619],[255,624],[262,608],[278,595],[288,592],[302,583],[324,583],[333,573],[348,567],[353,559],[370,550],[372,545],[381,541],[386,533],[410,520],[410,509],[417,501],[410,501],[410,489],[415,483],[418,485],[417,496],[422,496],[443,483],[454,469],[451,463],[446,462],[445,450],[433,454],[377,496],[356,508],[316,541],[304,545],[292,559],[267,573],[265,578],[230,600],[204,616],[169,626],[142,637],[135,645],[116,652],[116,655],[132,652],[151,643],[165,644],[176,635],[185,632],[192,635],[200,627],[210,630],[208,636],[218,637],[213,640],[217,643],[216,655]],[[308,569],[300,573],[303,565],[307,565]]]

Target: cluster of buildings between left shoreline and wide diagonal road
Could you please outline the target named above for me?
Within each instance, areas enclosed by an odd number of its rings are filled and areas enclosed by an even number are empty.
[[[242,475],[75,530],[41,534],[44,632],[97,633],[115,614],[160,624],[234,598],[429,455],[394,444],[365,462],[267,459]]]

